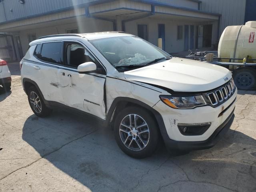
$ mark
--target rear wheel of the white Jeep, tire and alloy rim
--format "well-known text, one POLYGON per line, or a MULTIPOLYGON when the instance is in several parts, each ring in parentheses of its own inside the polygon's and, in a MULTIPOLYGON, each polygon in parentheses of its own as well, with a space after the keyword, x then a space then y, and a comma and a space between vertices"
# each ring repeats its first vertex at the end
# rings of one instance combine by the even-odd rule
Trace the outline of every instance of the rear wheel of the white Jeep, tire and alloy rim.
POLYGON ((38 117, 46 117, 52 112, 52 110, 44 104, 44 101, 35 86, 31 86, 28 89, 28 102, 30 108, 38 117))

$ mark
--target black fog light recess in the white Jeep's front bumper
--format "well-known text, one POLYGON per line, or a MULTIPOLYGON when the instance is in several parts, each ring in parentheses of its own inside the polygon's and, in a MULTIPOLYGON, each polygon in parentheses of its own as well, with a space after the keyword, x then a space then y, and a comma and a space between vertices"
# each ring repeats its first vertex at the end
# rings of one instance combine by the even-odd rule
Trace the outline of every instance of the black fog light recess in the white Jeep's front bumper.
POLYGON ((204 132, 206 132, 206 130, 208 130, 211 124, 211 122, 191 124, 179 123, 178 128, 182 135, 202 135, 204 132))

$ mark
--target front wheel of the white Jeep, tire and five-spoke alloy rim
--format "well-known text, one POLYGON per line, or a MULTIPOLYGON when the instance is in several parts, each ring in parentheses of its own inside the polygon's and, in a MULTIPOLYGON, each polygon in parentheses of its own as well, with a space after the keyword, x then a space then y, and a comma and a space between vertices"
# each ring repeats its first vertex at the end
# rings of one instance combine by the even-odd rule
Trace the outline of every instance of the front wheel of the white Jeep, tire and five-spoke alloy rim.
POLYGON ((120 149, 133 158, 151 156, 160 141, 156 121, 147 110, 139 107, 124 108, 118 113, 114 121, 114 135, 120 149))

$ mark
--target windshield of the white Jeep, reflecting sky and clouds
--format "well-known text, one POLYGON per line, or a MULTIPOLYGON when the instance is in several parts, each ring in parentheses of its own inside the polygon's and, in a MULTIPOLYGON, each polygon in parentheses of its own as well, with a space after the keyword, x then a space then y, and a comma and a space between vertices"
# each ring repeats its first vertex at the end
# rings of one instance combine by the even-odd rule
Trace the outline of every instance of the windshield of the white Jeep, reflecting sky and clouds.
POLYGON ((114 66, 144 66, 170 56, 136 36, 91 40, 90 43, 114 66))

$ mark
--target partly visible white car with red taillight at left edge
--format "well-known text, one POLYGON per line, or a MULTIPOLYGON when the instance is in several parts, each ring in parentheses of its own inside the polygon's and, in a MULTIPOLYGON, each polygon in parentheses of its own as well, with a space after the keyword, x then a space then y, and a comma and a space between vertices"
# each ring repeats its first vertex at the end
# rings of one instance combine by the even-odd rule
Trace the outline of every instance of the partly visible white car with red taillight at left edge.
POLYGON ((7 91, 11 89, 11 73, 5 60, 0 59, 0 85, 7 91))

